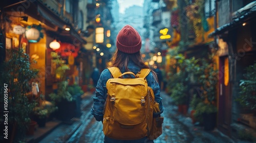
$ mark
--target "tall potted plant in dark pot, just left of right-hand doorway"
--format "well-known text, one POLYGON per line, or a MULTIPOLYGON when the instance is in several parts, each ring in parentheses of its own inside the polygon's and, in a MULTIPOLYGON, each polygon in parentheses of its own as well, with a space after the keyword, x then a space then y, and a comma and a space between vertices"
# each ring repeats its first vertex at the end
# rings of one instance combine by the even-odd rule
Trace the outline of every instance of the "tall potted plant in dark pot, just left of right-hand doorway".
POLYGON ((216 94, 218 83, 218 70, 213 61, 214 53, 208 59, 202 59, 201 69, 203 73, 199 77, 201 83, 200 102, 196 106, 195 117, 203 117, 204 129, 213 130, 216 126, 217 107, 216 94))

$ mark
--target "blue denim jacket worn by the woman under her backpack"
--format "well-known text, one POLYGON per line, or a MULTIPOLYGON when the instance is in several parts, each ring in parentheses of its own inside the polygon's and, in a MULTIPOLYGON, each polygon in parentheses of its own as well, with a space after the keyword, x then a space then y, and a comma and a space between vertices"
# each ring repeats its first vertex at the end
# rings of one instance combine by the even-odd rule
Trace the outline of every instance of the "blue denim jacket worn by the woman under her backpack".
MULTIPOLYGON (((139 66, 135 65, 132 61, 128 63, 128 68, 130 71, 132 71, 135 75, 140 71, 139 66)), ((125 72, 124 67, 120 69, 121 73, 125 72)), ((126 75, 125 75, 126 76, 126 75)), ((106 89, 106 82, 111 78, 111 73, 109 69, 104 69, 100 75, 100 78, 98 80, 97 86, 96 86, 96 97, 93 98, 93 106, 91 109, 91 113, 94 115, 96 121, 102 121, 103 120, 103 109, 104 104, 106 101, 106 93, 108 92, 106 89)), ((164 107, 162 105, 162 98, 160 97, 160 88, 159 84, 156 81, 152 71, 150 74, 146 76, 147 84, 150 86, 155 94, 155 101, 159 103, 160 112, 154 113, 154 116, 158 116, 161 114, 164 110, 164 107)))

